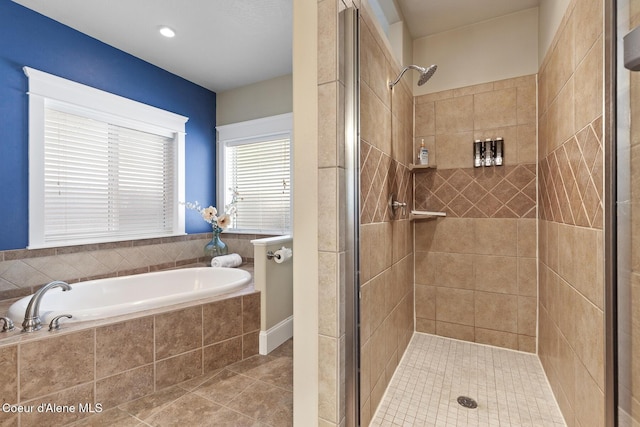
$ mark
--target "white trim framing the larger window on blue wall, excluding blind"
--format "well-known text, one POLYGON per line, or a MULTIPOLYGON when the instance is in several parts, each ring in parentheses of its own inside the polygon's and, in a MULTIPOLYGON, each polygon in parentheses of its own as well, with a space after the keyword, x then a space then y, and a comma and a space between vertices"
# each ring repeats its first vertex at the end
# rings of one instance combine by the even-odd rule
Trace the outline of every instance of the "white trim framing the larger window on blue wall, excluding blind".
MULTIPOLYGON (((68 110, 91 112, 101 120, 137 129, 170 134, 176 140, 176 183, 174 206, 177 214, 172 235, 185 234, 185 208, 179 202, 185 198, 185 124, 188 117, 171 113, 141 102, 85 86, 30 67, 23 67, 29 78, 29 245, 28 249, 55 247, 61 244, 44 242, 44 114, 51 104, 64 104, 68 110), (98 113, 96 113, 98 112, 98 113), (136 117, 131 120, 129 117, 136 117), (140 128, 143 122, 144 128, 140 128)), ((104 241, 113 241, 105 239, 104 241)), ((69 243, 69 245, 83 242, 69 243)), ((86 242, 89 243, 89 242, 86 242)), ((91 243, 99 243, 92 241, 91 243)))

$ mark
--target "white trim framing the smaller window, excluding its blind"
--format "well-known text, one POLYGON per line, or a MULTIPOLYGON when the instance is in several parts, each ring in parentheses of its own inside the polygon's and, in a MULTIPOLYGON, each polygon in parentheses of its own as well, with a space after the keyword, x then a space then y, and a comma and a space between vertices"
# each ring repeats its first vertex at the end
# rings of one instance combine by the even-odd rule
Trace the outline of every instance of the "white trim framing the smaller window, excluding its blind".
MULTIPOLYGON (((276 137, 289 139, 291 144, 291 159, 293 159, 293 113, 278 114, 275 116, 264 117, 260 119, 247 120, 244 122, 232 123, 228 125, 217 126, 217 206, 224 209, 225 188, 225 145, 247 144, 256 141, 262 141, 266 138, 276 137)), ((291 173, 291 194, 293 195, 293 171, 291 173)), ((293 197, 291 198, 290 209, 293 213, 293 197)), ((293 215, 291 216, 293 218, 293 215)), ((244 230, 230 229, 233 233, 238 234, 255 234, 260 230, 244 230)), ((286 234, 291 234, 293 230, 289 230, 286 234)))

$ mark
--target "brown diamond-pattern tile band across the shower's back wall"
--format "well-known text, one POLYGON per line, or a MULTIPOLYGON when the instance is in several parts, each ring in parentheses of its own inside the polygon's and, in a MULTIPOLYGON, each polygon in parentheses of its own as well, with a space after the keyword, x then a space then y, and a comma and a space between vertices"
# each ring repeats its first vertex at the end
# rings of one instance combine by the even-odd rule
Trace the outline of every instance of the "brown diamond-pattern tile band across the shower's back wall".
POLYGON ((416 174, 415 181, 419 210, 443 211, 457 218, 535 216, 534 164, 433 170, 416 174))

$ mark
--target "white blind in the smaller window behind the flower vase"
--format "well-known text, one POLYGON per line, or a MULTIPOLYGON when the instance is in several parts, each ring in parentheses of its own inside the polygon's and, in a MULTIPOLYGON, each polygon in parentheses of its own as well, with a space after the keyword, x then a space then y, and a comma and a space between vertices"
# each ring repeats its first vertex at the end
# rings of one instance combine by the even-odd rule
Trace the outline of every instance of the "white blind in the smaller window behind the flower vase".
POLYGON ((235 193, 232 228, 272 232, 291 229, 289 138, 226 147, 227 201, 235 193))

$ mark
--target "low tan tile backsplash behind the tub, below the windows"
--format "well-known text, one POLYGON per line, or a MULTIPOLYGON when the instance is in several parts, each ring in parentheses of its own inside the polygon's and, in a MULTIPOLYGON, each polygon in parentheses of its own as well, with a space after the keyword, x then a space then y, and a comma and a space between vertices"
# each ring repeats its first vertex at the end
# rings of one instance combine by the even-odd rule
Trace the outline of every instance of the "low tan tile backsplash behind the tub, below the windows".
MULTIPOLYGON (((223 233, 231 252, 253 260, 251 240, 269 237, 223 233)), ((129 276, 206 263, 203 248, 211 233, 162 239, 130 240, 50 249, 0 251, 0 301, 34 293, 53 281, 69 283, 129 276)))

